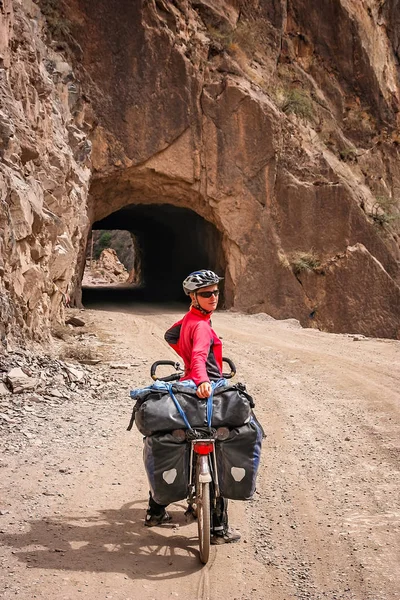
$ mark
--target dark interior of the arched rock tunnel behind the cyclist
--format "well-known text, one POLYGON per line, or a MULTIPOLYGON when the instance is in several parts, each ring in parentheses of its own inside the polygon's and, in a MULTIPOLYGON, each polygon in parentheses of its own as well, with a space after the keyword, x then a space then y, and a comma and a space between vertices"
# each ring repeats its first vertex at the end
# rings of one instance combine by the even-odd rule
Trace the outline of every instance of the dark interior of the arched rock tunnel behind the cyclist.
POLYGON ((131 204, 95 222, 93 229, 126 230, 135 236, 141 284, 84 287, 84 306, 100 301, 184 302, 182 281, 191 271, 212 269, 224 275, 221 233, 192 210, 170 204, 131 204))

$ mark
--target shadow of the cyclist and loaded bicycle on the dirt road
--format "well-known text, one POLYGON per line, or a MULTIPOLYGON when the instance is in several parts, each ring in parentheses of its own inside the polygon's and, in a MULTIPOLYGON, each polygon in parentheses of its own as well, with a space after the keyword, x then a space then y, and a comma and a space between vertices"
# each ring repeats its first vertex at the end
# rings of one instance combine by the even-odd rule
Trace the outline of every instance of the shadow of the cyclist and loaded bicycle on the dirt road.
MULTIPOLYGON (((197 538, 189 537, 189 527, 183 535, 172 524, 145 528, 143 508, 134 508, 135 504, 139 501, 93 517, 32 521, 30 531, 2 535, 2 542, 21 549, 13 554, 29 568, 122 573, 154 581, 184 577, 202 568, 197 538)), ((173 523, 183 528, 182 507, 174 510, 171 505, 169 512, 173 523)))

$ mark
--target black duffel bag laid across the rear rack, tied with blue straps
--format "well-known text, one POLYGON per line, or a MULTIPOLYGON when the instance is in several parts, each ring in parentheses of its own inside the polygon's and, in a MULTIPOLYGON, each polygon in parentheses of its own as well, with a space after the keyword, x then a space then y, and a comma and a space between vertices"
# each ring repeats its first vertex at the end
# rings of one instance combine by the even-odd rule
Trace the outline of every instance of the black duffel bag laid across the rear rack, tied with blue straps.
MULTIPOLYGON (((207 400, 199 398, 196 389, 174 384, 171 390, 192 427, 207 425, 207 400)), ((186 429, 172 397, 167 390, 147 388, 136 396, 133 416, 143 435, 186 429)), ((220 385, 214 390, 212 427, 238 427, 249 422, 254 402, 243 384, 220 385)))

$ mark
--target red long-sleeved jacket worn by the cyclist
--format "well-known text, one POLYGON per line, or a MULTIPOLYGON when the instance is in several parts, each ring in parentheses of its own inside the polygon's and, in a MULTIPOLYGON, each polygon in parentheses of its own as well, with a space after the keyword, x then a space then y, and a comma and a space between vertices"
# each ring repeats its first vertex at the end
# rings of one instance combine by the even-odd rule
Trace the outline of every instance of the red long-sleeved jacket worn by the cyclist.
POLYGON ((211 327, 210 317, 191 306, 164 336, 185 363, 181 380, 193 379, 196 385, 222 377, 222 342, 211 327))

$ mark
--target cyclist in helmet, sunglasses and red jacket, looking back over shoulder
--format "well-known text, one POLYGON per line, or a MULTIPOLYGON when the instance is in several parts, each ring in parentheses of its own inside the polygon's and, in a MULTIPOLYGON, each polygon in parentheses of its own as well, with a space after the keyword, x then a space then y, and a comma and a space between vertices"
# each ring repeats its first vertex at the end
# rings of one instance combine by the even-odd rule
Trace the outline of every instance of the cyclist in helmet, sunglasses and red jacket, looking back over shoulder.
MULTIPOLYGON (((190 273, 183 290, 192 301, 186 315, 165 334, 168 344, 185 364, 181 380, 191 379, 197 385, 199 398, 211 395, 211 381, 222 377, 222 342, 211 327, 211 315, 217 308, 222 277, 213 271, 190 273)), ((237 542, 240 535, 228 527, 228 501, 220 497, 212 515, 212 544, 237 542)), ((150 495, 145 525, 152 527, 171 520, 165 506, 157 504, 150 495)))

